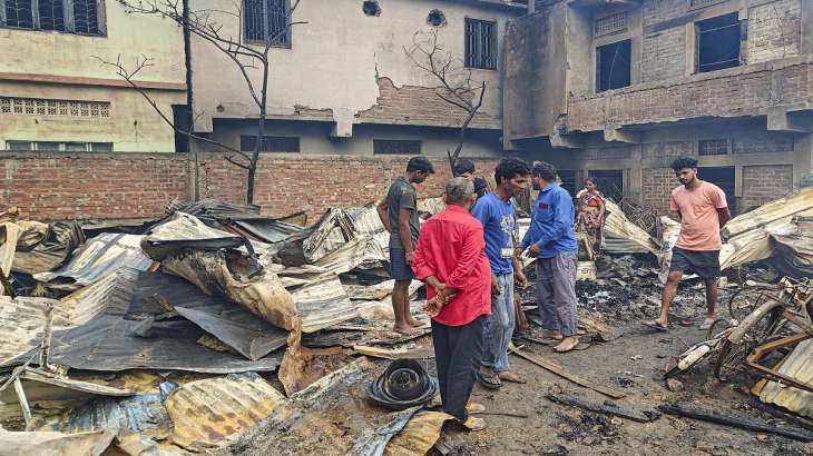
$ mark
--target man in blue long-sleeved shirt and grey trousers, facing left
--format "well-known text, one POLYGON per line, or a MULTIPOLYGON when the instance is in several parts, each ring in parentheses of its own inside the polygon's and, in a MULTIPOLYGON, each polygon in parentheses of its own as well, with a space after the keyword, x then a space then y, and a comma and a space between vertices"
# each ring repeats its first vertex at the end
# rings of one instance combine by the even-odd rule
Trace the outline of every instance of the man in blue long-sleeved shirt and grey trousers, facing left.
POLYGON ((556 168, 547 162, 533 166, 531 184, 539 190, 533 202, 531 226, 520 249, 537 258, 537 297, 543 337, 561 340, 556 351, 579 345, 576 325, 576 269, 578 245, 574 234, 574 201, 556 184, 556 168))

